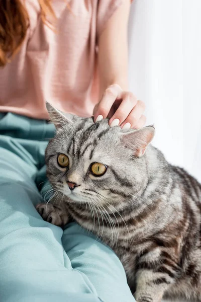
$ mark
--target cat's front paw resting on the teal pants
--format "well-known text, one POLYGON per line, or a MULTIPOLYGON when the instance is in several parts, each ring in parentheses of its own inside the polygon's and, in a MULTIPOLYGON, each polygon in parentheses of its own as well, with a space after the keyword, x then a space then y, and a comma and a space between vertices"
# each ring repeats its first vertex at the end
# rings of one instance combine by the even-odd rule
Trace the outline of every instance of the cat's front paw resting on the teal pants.
POLYGON ((57 206, 53 206, 51 203, 38 203, 36 209, 47 222, 58 226, 64 226, 68 222, 69 216, 66 211, 57 206))

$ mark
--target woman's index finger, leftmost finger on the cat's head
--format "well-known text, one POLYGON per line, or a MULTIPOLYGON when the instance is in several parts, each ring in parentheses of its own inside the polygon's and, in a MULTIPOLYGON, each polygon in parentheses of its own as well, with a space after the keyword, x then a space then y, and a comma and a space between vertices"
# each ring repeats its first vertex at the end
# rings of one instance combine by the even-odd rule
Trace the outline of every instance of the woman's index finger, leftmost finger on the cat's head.
POLYGON ((111 85, 105 90, 102 99, 94 108, 94 122, 102 120, 103 118, 106 118, 108 116, 111 107, 113 106, 121 92, 122 89, 117 84, 111 85))

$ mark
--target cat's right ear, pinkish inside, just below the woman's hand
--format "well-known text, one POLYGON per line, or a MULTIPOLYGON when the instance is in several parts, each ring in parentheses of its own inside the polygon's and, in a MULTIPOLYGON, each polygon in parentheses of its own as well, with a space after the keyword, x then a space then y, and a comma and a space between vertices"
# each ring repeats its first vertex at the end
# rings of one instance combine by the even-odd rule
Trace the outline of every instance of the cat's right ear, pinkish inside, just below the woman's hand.
POLYGON ((155 128, 151 125, 121 133, 120 139, 127 148, 133 150, 135 157, 141 157, 144 155, 146 147, 153 139, 154 134, 155 128))

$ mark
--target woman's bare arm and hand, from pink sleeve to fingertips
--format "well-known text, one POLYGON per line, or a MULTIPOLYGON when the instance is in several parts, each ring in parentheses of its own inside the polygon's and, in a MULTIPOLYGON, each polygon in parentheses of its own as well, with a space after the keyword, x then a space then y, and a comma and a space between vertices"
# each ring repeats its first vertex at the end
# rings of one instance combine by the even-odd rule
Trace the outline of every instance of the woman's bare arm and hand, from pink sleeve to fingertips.
POLYGON ((145 105, 128 92, 128 19, 130 0, 107 22, 98 38, 100 102, 94 108, 94 120, 110 117, 111 126, 139 128, 145 124, 145 105))

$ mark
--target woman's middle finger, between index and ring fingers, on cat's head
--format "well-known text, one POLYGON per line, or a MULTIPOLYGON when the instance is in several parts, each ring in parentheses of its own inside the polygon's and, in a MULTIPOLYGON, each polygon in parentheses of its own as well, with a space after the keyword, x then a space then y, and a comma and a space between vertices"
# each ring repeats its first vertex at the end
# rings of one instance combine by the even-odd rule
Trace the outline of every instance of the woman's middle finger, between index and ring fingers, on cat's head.
POLYGON ((118 99, 121 99, 122 102, 109 121, 111 127, 121 125, 137 104, 137 99, 131 92, 122 92, 118 99))

